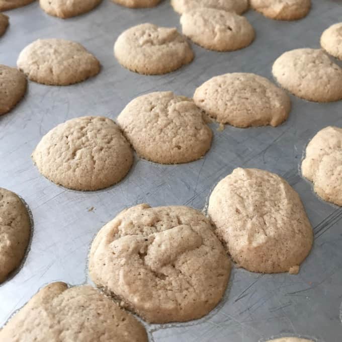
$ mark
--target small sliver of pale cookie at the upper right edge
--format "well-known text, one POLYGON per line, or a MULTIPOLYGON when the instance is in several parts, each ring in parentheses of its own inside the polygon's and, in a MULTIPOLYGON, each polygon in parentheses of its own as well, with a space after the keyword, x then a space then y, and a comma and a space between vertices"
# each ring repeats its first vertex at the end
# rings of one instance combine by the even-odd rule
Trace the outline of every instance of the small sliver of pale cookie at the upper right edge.
POLYGON ((342 60, 342 23, 327 28, 322 33, 320 44, 328 54, 342 60))

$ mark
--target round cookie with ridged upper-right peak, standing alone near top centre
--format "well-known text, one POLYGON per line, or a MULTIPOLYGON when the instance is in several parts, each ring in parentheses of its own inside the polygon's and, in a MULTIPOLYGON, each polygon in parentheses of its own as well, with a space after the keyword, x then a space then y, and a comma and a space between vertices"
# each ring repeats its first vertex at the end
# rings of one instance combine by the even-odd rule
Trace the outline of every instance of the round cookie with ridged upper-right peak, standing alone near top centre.
POLYGON ((146 75, 177 70, 194 59, 186 39, 176 28, 141 24, 121 33, 114 54, 125 68, 146 75))

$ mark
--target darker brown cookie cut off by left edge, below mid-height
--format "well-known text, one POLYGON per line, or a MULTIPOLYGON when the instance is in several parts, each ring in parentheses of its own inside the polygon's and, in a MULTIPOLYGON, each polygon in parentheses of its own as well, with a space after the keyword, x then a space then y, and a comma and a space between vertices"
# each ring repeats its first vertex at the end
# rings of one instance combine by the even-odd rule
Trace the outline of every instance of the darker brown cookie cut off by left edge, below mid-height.
POLYGON ((30 217, 24 203, 15 193, 0 188, 0 283, 22 262, 30 232, 30 217))

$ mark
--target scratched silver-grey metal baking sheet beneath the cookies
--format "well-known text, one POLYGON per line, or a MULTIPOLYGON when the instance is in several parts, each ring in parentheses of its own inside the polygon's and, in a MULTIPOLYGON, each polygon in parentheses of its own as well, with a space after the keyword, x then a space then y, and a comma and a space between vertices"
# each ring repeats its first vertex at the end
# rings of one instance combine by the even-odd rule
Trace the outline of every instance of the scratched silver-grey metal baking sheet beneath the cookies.
POLYGON ((298 166, 308 140, 327 125, 342 126, 342 102, 316 104, 291 97, 293 110, 278 128, 216 130, 211 150, 198 161, 175 166, 135 158, 128 177, 110 189, 76 192, 39 175, 30 154, 40 138, 67 119, 104 115, 115 119, 140 94, 172 90, 192 96, 210 77, 232 71, 272 78, 273 61, 284 51, 319 47, 320 33, 342 18, 338 1, 313 1, 310 15, 276 22, 249 11, 254 43, 232 53, 194 46, 190 65, 162 76, 122 68, 112 48, 126 28, 143 22, 179 25, 167 1, 151 10, 129 10, 105 0, 95 11, 68 20, 43 13, 37 3, 9 11, 11 26, 0 39, 0 63, 15 66, 19 52, 37 38, 82 43, 101 61, 101 73, 69 87, 29 83, 20 105, 0 118, 0 186, 20 194, 34 219, 31 249, 22 269, 0 286, 0 326, 43 285, 89 282, 88 249, 96 232, 119 211, 141 202, 204 208, 215 184, 237 166, 265 168, 283 176, 300 194, 315 231, 312 252, 299 275, 260 275, 234 269, 224 301, 207 317, 190 323, 147 325, 150 340, 257 342, 283 333, 319 341, 342 339, 342 209, 319 200, 298 166), (94 210, 89 211, 94 207, 94 210))

